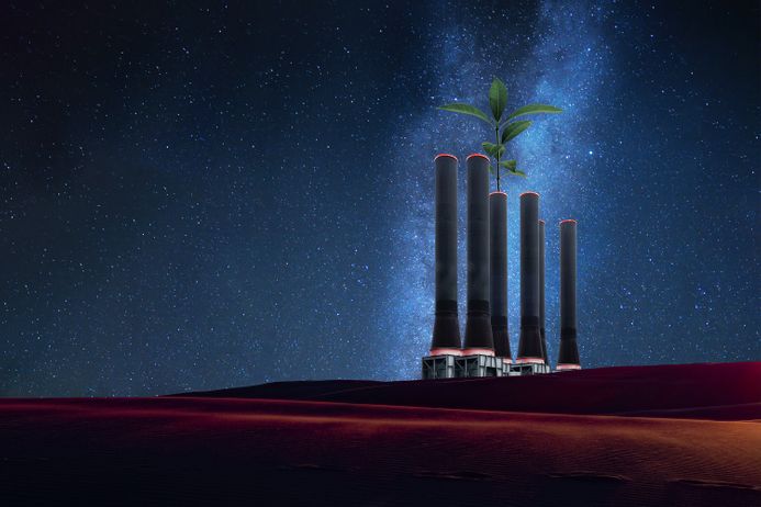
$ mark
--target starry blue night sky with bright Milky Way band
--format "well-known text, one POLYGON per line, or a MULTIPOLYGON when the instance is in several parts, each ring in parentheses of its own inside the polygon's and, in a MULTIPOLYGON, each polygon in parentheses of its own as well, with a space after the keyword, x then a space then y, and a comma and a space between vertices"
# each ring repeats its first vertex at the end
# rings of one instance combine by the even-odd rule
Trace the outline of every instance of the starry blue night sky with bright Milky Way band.
POLYGON ((433 158, 512 144, 579 221, 585 368, 761 359, 757 2, 3 2, 0 395, 413 379, 434 307, 433 158), (701 3, 701 7, 697 4, 701 3), (727 7, 727 4, 734 7, 727 7), (686 5, 686 4, 684 4, 686 5))

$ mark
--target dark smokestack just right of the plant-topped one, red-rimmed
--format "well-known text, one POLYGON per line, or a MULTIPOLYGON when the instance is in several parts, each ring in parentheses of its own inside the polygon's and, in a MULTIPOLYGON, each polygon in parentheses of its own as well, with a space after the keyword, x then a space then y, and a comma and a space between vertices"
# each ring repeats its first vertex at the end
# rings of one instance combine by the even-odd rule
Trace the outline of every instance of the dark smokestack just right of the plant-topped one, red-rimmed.
POLYGON ((521 194, 521 341, 518 363, 544 364, 539 333, 539 194, 521 194))

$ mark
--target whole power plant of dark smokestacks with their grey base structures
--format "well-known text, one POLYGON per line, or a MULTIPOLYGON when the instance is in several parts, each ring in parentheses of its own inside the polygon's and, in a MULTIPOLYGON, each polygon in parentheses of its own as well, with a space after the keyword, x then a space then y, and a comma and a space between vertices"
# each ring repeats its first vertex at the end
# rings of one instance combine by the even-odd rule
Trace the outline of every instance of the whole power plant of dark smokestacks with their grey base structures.
MULTIPOLYGON (((507 329, 507 195, 489 192, 490 160, 467 160, 467 314, 460 339, 457 301, 457 167, 434 159, 436 309, 423 379, 549 373, 545 336, 545 222, 539 194, 521 194, 521 338, 513 359, 507 329)), ((579 370, 577 347, 577 222, 560 222, 560 351, 555 371, 579 370)))

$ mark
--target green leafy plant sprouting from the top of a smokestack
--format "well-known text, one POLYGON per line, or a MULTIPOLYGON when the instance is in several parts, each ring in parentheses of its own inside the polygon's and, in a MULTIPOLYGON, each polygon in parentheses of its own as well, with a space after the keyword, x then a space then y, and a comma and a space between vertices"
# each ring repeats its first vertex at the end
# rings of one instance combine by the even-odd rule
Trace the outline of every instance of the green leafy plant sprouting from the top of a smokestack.
POLYGON ((505 106, 507 105, 507 88, 505 83, 499 78, 494 78, 492 86, 489 89, 489 106, 492 110, 492 117, 489 117, 486 113, 475 108, 474 105, 454 103, 441 105, 441 111, 450 111, 452 113, 469 114, 475 116, 479 120, 486 122, 492 128, 494 128, 494 140, 496 143, 482 143, 483 149, 489 154, 490 157, 496 159, 496 165, 492 166, 490 164, 489 170, 492 171, 496 178, 496 190, 500 190, 500 172, 505 170, 507 174, 519 176, 526 178, 526 173, 517 169, 517 162, 515 160, 502 160, 505 155, 505 144, 518 136, 522 132, 531 125, 529 120, 521 120, 515 122, 514 120, 519 116, 526 116, 528 114, 538 113, 561 113, 562 110, 549 104, 528 104, 523 108, 518 108, 504 120, 502 117, 505 112, 505 106))

